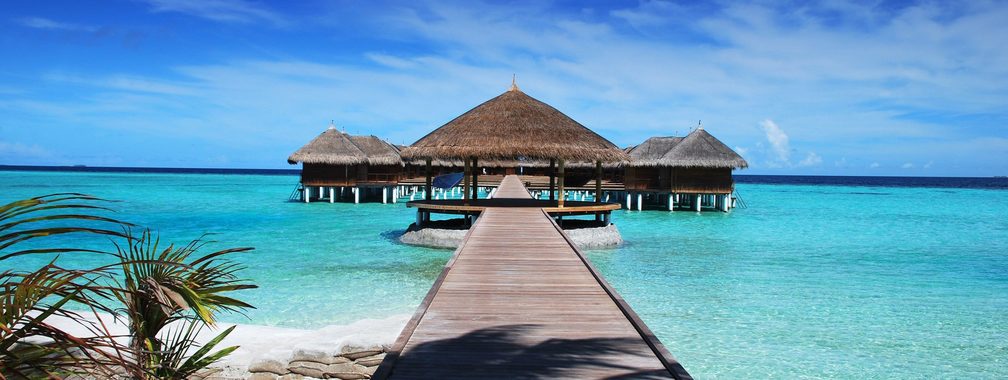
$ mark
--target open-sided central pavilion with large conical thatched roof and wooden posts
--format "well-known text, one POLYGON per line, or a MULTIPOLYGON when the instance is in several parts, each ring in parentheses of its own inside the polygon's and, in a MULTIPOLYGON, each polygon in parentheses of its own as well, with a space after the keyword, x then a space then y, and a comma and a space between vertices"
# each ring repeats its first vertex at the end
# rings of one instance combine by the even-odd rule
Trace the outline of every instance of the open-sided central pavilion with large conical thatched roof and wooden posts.
MULTIPOLYGON (((541 160, 555 169, 549 174, 549 199, 556 209, 563 209, 565 166, 568 162, 592 162, 595 166, 596 197, 601 203, 603 162, 628 160, 626 152, 612 142, 586 128, 555 108, 521 92, 516 85, 461 116, 449 121, 401 151, 409 161, 422 160, 427 188, 425 201, 430 204, 430 176, 437 160, 463 163, 463 203, 478 198, 482 167, 502 162, 541 160), (554 193, 555 188, 555 193, 554 193), (472 193, 472 194, 470 194, 472 193), (554 200, 555 197, 555 200, 554 200)), ((430 204, 432 205, 432 204, 430 204)), ((437 208, 418 206, 417 225, 429 220, 437 208)), ((608 212, 596 214, 597 219, 608 212)))

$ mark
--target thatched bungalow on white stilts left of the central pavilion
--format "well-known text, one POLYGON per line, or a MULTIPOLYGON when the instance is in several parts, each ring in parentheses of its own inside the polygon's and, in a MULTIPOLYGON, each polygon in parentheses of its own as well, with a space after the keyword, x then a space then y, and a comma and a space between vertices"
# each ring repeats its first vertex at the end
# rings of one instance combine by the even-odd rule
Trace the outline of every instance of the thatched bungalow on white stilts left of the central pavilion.
POLYGON ((301 162, 301 199, 336 200, 353 197, 359 203, 381 193, 382 203, 396 202, 403 164, 399 149, 375 136, 351 136, 329 129, 287 157, 301 162), (318 189, 318 193, 314 192, 318 189), (328 197, 327 197, 328 196, 328 197))

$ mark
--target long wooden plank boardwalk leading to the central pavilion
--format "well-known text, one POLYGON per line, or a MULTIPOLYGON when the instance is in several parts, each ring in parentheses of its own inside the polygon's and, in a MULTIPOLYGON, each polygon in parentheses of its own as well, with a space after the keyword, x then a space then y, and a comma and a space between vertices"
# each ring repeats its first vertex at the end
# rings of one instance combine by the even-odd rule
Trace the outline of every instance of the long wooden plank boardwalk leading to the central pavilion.
POLYGON ((690 377, 541 209, 488 208, 374 378, 690 377))

